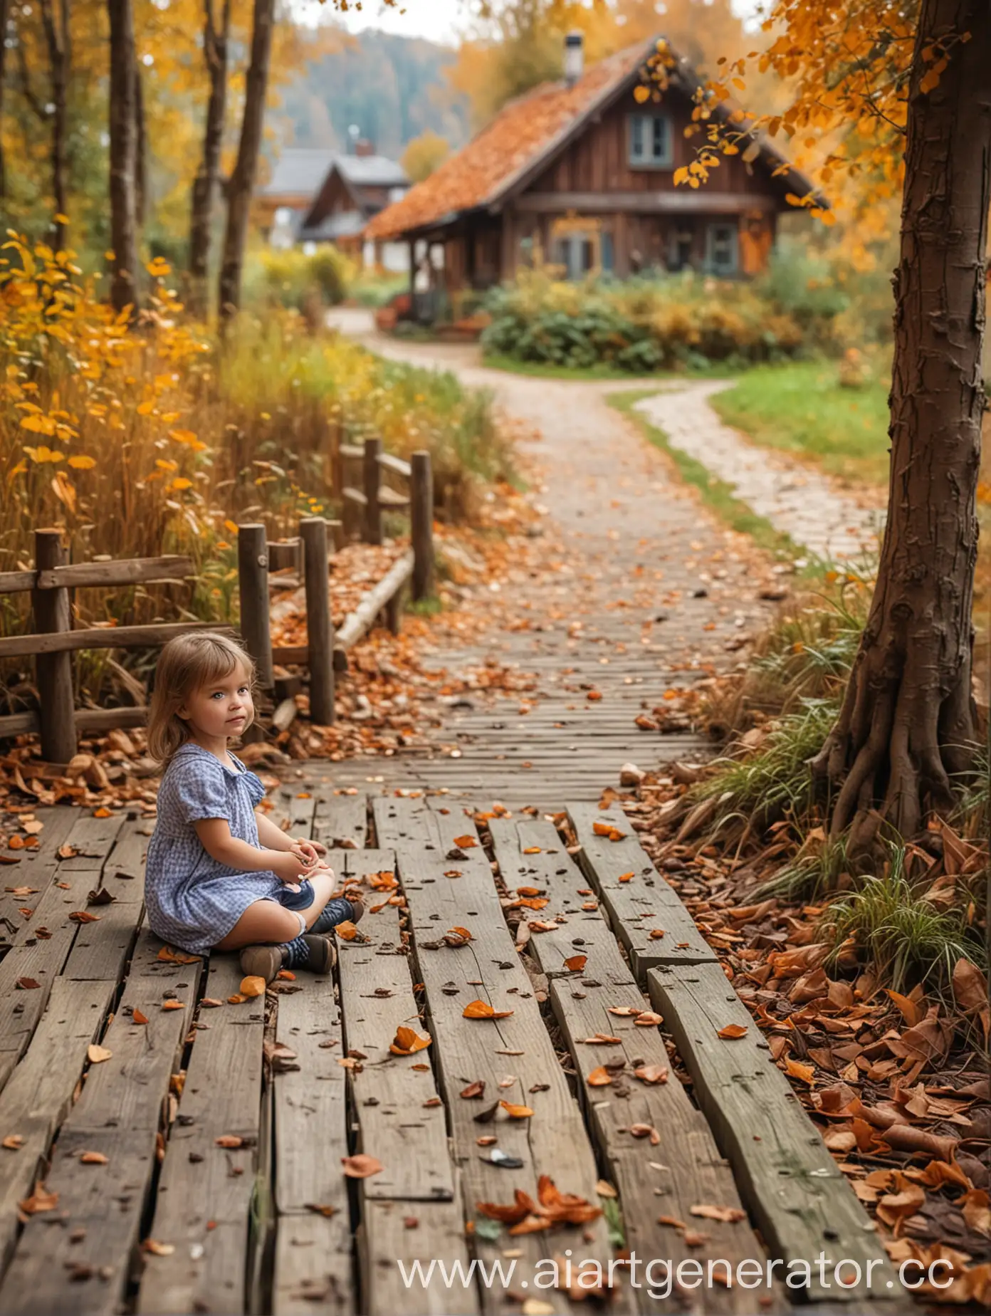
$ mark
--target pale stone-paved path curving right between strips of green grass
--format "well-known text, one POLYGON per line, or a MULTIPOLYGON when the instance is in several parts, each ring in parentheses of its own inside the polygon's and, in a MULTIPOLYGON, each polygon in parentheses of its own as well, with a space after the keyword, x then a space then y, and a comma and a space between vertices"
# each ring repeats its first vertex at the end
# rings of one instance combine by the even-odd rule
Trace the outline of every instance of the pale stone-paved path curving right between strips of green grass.
POLYGON ((826 562, 857 562, 878 547, 880 516, 858 505, 832 480, 783 453, 749 443, 724 425, 709 397, 726 380, 665 390, 637 403, 674 446, 725 480, 734 497, 826 562))

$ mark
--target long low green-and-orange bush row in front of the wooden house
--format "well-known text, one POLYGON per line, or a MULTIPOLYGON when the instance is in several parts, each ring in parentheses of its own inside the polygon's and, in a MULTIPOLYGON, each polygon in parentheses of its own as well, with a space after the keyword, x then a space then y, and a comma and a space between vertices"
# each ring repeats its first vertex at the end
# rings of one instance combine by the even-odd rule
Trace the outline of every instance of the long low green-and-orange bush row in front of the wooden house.
POLYGON ((770 284, 692 274, 565 283, 538 268, 490 295, 492 324, 482 343, 487 353, 516 361, 630 374, 744 365, 821 346, 837 307, 830 300, 792 313, 770 284))

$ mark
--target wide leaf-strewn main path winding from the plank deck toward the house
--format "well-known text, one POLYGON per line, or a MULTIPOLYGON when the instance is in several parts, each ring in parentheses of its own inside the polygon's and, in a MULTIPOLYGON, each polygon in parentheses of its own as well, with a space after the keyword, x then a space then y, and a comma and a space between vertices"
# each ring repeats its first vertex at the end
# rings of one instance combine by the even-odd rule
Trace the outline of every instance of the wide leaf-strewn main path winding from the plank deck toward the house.
MULTIPOLYGON (((474 347, 371 337, 365 312, 343 332, 392 359, 453 370, 487 387, 520 430, 542 533, 520 544, 505 574, 462 599, 491 624, 465 645, 442 619, 425 662, 457 672, 486 659, 534 674, 534 688, 494 711, 446 709, 432 754, 336 765, 355 784, 462 786, 487 796, 558 803, 597 797, 628 761, 653 769, 698 754, 637 716, 676 707, 676 692, 745 661, 779 591, 774 565, 705 509, 670 459, 608 405, 632 384, 533 379, 487 370, 474 347), (517 707, 519 705, 519 707, 517 707), (365 769, 365 770, 363 770, 365 769), (540 784, 537 784, 540 783, 540 784)), ((513 545, 511 544, 511 550, 513 545)))

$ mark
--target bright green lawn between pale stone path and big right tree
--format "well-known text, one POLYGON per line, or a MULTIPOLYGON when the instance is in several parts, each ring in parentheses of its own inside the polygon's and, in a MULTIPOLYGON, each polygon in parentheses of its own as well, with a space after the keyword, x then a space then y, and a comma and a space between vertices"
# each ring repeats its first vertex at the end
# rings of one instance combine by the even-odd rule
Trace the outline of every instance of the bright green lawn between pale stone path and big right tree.
POLYGON ((844 388, 838 371, 833 361, 758 366, 709 401, 755 443, 808 458, 829 475, 886 484, 887 382, 844 388))

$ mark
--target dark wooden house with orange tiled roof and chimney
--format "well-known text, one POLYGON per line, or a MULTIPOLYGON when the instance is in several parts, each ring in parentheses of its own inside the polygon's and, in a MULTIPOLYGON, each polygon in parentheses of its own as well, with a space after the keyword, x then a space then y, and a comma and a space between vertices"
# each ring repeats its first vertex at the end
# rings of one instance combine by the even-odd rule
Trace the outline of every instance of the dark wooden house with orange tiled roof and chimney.
POLYGON ((366 236, 408 242, 415 291, 422 295, 429 283, 449 297, 512 279, 538 257, 567 278, 687 267, 723 278, 759 272, 778 215, 790 209, 786 193, 805 196, 812 183, 757 138, 720 157, 701 187, 675 187, 675 170, 696 158, 700 141, 684 133, 696 74, 662 38, 587 71, 580 34, 567 42, 563 82, 505 105, 375 216, 366 236))

